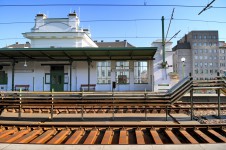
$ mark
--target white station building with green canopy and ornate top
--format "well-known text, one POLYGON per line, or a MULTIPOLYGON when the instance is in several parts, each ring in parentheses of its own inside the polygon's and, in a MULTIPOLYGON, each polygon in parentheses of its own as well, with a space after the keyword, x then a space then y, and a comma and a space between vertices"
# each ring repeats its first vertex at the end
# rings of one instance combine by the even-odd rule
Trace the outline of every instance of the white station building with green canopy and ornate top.
POLYGON ((67 18, 37 14, 34 27, 23 33, 30 43, 0 49, 0 90, 112 91, 116 82, 115 91, 153 91, 157 47, 127 41, 107 46, 79 24, 76 13, 67 18))

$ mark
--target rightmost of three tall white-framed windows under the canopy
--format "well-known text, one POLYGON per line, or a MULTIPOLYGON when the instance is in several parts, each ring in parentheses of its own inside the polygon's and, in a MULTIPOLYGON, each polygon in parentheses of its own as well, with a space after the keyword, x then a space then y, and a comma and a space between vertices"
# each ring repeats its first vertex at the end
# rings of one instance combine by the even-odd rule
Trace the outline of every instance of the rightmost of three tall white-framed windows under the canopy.
POLYGON ((148 83, 147 61, 134 62, 134 83, 148 83))

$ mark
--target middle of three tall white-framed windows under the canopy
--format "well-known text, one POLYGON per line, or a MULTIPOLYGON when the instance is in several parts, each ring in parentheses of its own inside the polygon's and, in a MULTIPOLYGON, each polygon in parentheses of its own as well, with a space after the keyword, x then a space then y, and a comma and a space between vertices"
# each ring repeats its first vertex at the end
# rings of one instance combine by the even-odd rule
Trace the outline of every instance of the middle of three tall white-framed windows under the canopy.
POLYGON ((116 62, 116 82, 118 84, 129 83, 129 61, 116 62))

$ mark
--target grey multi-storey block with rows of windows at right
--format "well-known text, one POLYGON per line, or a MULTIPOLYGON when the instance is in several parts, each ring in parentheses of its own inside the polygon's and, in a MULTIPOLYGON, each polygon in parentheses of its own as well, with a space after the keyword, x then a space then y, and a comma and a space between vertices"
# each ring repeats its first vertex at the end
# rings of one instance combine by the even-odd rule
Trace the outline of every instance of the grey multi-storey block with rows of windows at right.
POLYGON ((191 31, 173 48, 174 72, 180 79, 192 73, 195 80, 208 80, 225 69, 225 56, 219 50, 218 31, 191 31), (185 61, 181 61, 185 58, 185 61))

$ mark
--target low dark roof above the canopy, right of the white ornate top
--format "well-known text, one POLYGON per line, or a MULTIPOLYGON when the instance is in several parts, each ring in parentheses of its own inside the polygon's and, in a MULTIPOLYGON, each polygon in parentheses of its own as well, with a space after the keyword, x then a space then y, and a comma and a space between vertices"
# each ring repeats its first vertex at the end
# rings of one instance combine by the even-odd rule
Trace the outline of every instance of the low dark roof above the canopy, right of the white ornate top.
POLYGON ((104 42, 104 41, 101 42, 94 41, 94 42, 97 44, 98 47, 135 47, 132 44, 128 43, 126 40, 124 41, 116 40, 115 42, 104 42))

